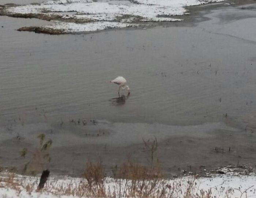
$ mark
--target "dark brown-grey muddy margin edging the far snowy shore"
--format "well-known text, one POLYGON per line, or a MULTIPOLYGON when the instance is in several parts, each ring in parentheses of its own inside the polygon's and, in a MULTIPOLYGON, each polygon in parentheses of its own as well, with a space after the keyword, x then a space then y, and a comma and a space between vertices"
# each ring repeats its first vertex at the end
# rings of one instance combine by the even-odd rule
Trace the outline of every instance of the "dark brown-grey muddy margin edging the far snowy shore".
MULTIPOLYGON (((19 14, 19 13, 5 13, 4 9, 7 9, 8 6, 20 6, 18 4, 5 4, 5 5, 1 5, 2 7, 2 13, 0 13, 0 16, 9 16, 9 17, 13 17, 13 18, 35 18, 35 19, 40 19, 40 20, 46 20, 51 22, 49 25, 46 26, 29 26, 29 27, 20 27, 17 29, 17 31, 29 31, 29 32, 34 32, 34 33, 43 33, 43 34, 50 34, 50 35, 61 35, 61 34, 94 34, 94 33, 99 33, 99 32, 104 32, 104 31, 113 31, 113 30, 135 30, 135 29, 148 29, 148 28, 156 28, 156 27, 191 27, 194 26, 196 23, 200 23, 203 22, 205 20, 208 20, 207 18, 204 18, 203 15, 206 15, 207 12, 210 13, 211 10, 213 9, 222 9, 222 8, 226 8, 228 6, 231 7, 237 7, 237 6, 241 6, 241 5, 247 5, 247 4, 252 4, 254 3, 253 0, 246 0, 246 1, 235 1, 235 3, 233 2, 234 0, 222 0, 221 2, 210 2, 210 3, 206 3, 206 4, 201 4, 201 5, 190 5, 190 6, 184 6, 184 8, 188 11, 188 14, 183 14, 183 15, 172 15, 174 17, 175 20, 171 21, 171 22, 140 22, 140 23, 129 23, 127 27, 121 27, 118 28, 116 27, 115 24, 110 24, 112 22, 109 22, 109 24, 106 26, 108 26, 108 28, 104 28, 105 25, 102 26, 103 29, 100 30, 90 30, 90 31, 78 31, 78 32, 65 32, 65 26, 63 26, 62 28, 59 29, 54 29, 52 28, 52 19, 50 19, 49 16, 44 16, 42 14, 19 14), (178 20, 178 21, 176 21, 178 20)), ((23 4, 21 4, 23 5, 23 4)), ((26 5, 26 4, 25 4, 26 5)), ((60 18, 61 19, 61 18, 60 18)), ((61 19, 62 21, 63 19, 61 19)), ((69 20, 68 22, 70 22, 70 24, 72 23, 71 20, 69 20)), ((75 22, 75 21, 74 21, 75 22)), ((81 22, 78 22, 81 23, 81 22)), ((102 23, 101 21, 96 21, 96 23, 102 23)), ((113 22, 116 23, 116 22, 113 22)), ((118 24, 117 24, 118 26, 118 24)))

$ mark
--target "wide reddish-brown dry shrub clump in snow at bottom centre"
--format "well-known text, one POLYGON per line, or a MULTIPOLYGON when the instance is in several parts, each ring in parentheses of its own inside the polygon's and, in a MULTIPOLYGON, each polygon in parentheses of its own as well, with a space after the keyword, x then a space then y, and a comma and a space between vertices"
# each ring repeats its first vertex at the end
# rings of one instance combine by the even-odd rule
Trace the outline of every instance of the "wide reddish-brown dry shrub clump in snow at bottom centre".
POLYGON ((159 167, 127 162, 114 167, 112 172, 114 197, 165 197, 167 180, 163 179, 159 167))

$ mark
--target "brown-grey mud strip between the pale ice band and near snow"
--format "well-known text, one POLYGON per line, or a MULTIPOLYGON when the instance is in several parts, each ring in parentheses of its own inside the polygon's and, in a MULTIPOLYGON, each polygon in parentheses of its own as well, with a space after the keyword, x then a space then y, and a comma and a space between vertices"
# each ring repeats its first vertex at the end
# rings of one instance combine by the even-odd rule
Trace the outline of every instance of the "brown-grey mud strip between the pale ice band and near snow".
MULTIPOLYGON (((53 141, 50 148, 51 161, 44 166, 54 174, 79 176, 87 161, 102 161, 109 174, 116 164, 128 160, 146 166, 150 164, 150 151, 145 147, 143 140, 148 141, 148 144, 151 145, 154 140, 153 135, 144 134, 138 140, 141 143, 127 142, 126 145, 121 145, 120 138, 125 138, 124 135, 120 134, 121 137, 118 138, 104 129, 96 130, 95 135, 92 132, 77 133, 81 142, 76 140, 75 134, 68 135, 64 131, 58 133, 53 130, 47 133, 42 128, 40 133, 42 132, 45 133, 46 140, 53 141), (151 138, 148 138, 150 136, 151 138), (107 141, 108 137, 113 139, 113 143, 107 141), (68 144, 67 139, 76 142, 76 145, 68 144), (114 145, 117 144, 117 141, 120 142, 118 146, 114 145)), ((24 165, 33 157, 33 153, 39 145, 37 134, 29 133, 27 136, 19 133, 19 136, 1 141, 0 161, 2 166, 22 172, 24 165), (20 156, 20 151, 23 148, 27 148, 29 151, 26 157, 20 156)), ((218 173, 218 167, 227 165, 256 167, 256 134, 251 131, 214 130, 208 132, 207 137, 202 135, 193 137, 188 133, 171 138, 163 138, 161 134, 154 134, 154 136, 158 138, 154 160, 158 161, 163 172, 169 177, 189 172, 193 175, 206 176, 208 172, 213 173, 211 170, 216 169, 216 173, 218 173)))

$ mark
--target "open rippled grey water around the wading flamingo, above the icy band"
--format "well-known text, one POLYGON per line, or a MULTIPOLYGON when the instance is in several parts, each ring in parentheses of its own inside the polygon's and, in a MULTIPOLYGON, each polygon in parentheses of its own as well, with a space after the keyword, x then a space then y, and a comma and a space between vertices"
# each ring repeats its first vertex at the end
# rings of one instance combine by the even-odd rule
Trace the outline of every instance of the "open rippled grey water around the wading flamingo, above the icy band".
POLYGON ((59 36, 20 33, 37 20, 1 17, 1 115, 44 109, 48 117, 188 125, 253 111, 255 20, 226 24, 218 14, 189 28, 59 36), (252 31, 237 37, 246 25, 252 31), (107 82, 118 75, 131 96, 116 106, 109 100, 118 87, 107 82))

